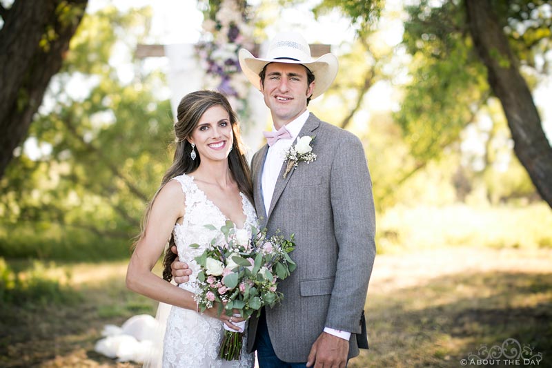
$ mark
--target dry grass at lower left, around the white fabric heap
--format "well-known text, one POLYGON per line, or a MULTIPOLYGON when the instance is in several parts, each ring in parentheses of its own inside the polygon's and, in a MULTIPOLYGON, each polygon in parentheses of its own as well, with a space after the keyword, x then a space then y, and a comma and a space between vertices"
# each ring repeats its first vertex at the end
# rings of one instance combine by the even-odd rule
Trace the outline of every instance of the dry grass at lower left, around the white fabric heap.
MULTIPOLYGON (((94 351, 103 325, 121 325, 138 313, 155 315, 157 303, 126 289, 125 271, 126 262, 50 264, 44 273, 46 277, 75 275, 61 279, 79 299, 76 302, 54 299, 46 304, 26 301, 3 305, 0 311, 0 366, 141 367, 117 363, 94 351)), ((25 275, 23 272, 21 276, 25 275)))

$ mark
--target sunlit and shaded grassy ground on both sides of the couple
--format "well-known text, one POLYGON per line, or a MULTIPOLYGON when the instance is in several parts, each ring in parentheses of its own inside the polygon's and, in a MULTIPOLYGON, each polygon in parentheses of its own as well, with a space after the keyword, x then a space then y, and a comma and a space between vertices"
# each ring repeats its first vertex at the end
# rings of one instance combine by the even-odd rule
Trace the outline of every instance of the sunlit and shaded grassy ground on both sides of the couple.
MULTIPOLYGON (((371 349, 348 367, 460 367, 508 339, 552 365, 552 212, 544 204, 397 206, 378 218, 377 236, 382 254, 365 308, 371 349)), ((37 261, 27 259, 42 255, 25 246, 38 235, 18 248, 0 234, 0 255, 17 258, 0 257, 0 367, 141 367, 94 351, 104 325, 155 315, 156 302, 124 285, 128 251, 63 239, 42 240, 41 254, 58 261, 37 261), (92 262, 102 254, 124 260, 92 262)))

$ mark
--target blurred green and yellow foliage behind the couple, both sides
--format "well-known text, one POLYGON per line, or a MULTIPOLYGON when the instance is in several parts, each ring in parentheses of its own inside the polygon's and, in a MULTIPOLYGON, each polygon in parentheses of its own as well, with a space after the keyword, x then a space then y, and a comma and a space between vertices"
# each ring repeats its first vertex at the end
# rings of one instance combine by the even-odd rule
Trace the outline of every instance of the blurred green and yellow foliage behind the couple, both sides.
MULTIPOLYGON (((280 8, 300 2, 279 1, 280 8)), ((201 4, 216 9, 218 2, 201 4)), ((531 87, 550 69, 535 64, 535 57, 551 48, 551 20, 535 12, 542 4, 496 3, 531 87), (520 27, 527 21, 533 26, 520 27)), ((259 35, 260 27, 279 17, 271 6, 262 4, 257 12, 259 35)), ((397 17, 384 1, 324 0, 313 14, 322 17, 333 10, 351 20, 357 37, 337 46, 339 75, 322 101, 310 107, 364 143, 383 219, 378 244, 392 244, 379 251, 395 249, 397 239, 404 239, 404 231, 397 234, 400 226, 386 220, 403 206, 464 204, 482 211, 481 206, 515 208, 539 201, 513 155, 502 108, 466 32, 462 2, 430 6, 424 0, 406 8, 404 38, 394 48, 377 47, 381 22, 397 17), (397 62, 404 54, 410 57, 407 65, 397 62), (373 86, 397 84, 400 74, 408 74, 408 81, 400 86, 399 108, 359 114, 373 86), (482 124, 484 116, 491 124, 482 124), (483 137, 482 155, 462 148, 469 130, 483 137)), ((128 257, 145 206, 170 164, 173 139, 170 104, 158 93, 166 86, 165 75, 146 72, 141 61, 132 60, 135 77, 124 81, 115 65, 120 55, 132 55, 146 40, 151 14, 150 8, 120 12, 108 6, 84 17, 29 131, 29 142, 51 151, 37 159, 19 148, 0 180, 0 257, 128 257)), ((544 231, 542 240, 532 244, 548 244, 548 238, 544 231)))

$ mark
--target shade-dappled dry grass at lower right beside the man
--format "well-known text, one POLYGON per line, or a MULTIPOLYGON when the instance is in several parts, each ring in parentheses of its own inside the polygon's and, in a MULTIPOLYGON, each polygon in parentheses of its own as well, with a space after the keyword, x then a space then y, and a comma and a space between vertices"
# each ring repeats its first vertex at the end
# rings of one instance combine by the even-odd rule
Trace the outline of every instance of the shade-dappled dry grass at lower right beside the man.
POLYGON ((372 349, 350 367, 460 367, 508 338, 552 357, 552 274, 455 274, 397 293, 371 293, 372 349))

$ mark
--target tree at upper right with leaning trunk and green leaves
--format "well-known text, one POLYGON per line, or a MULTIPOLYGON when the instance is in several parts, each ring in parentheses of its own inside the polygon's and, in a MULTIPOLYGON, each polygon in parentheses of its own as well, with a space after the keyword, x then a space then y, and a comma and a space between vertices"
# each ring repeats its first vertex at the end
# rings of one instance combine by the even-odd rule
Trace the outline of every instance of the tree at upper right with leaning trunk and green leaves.
POLYGON ((414 78, 397 120, 415 155, 438 155, 434 142, 453 142, 489 97, 500 99, 515 154, 552 206, 552 148, 527 72, 549 72, 546 63, 535 65, 535 55, 552 48, 544 3, 466 0, 432 7, 421 1, 408 7, 404 44, 413 55, 414 78))

